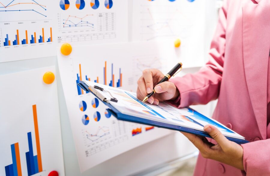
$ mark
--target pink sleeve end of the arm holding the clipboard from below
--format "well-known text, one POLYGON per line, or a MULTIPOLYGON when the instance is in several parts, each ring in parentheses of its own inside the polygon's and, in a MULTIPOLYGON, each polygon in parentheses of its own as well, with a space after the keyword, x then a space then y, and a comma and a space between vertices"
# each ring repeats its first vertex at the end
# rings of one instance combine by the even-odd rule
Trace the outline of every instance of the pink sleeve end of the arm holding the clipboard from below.
POLYGON ((242 175, 270 175, 270 139, 249 142, 241 145, 243 148, 242 175))

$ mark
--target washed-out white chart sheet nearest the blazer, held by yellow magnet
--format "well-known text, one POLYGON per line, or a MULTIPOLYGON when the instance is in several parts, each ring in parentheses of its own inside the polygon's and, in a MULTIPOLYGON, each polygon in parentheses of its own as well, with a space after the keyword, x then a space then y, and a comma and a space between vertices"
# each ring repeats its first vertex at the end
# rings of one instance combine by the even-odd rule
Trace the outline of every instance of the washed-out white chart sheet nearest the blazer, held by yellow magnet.
POLYGON ((133 1, 132 29, 133 41, 180 39, 179 58, 203 65, 205 0, 133 1))

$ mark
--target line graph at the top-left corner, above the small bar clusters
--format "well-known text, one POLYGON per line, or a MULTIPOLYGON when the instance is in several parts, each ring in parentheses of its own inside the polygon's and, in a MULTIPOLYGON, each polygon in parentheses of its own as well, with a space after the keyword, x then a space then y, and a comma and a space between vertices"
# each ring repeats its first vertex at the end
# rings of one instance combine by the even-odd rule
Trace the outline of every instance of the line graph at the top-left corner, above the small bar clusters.
MULTIPOLYGON (((42 10, 47 10, 46 9, 46 6, 45 5, 41 5, 41 4, 39 4, 38 2, 36 2, 35 0, 32 0, 32 2, 20 2, 20 3, 16 3, 16 4, 12 4, 14 1, 17 1, 17 0, 12 0, 9 4, 7 4, 7 5, 4 5, 2 2, 0 2, 0 4, 2 5, 2 7, 0 7, 0 12, 14 12, 14 11, 33 11, 33 12, 36 12, 36 13, 38 13, 38 14, 40 14, 40 15, 42 15, 42 16, 45 16, 45 17, 47 17, 45 14, 43 14, 42 12, 38 12, 37 10, 34 10, 34 9, 16 9, 16 8, 12 8, 12 9, 10 9, 10 7, 17 7, 18 5, 23 5, 23 4, 31 4, 31 5, 35 5, 35 6, 37 6, 37 7, 41 7, 42 8, 42 10), (2 9, 7 9, 7 10, 2 10, 2 9), (10 9, 10 10, 8 10, 8 9, 10 9)), ((20 6, 21 7, 21 6, 20 6)), ((27 8, 28 8, 28 6, 27 6, 27 8)))

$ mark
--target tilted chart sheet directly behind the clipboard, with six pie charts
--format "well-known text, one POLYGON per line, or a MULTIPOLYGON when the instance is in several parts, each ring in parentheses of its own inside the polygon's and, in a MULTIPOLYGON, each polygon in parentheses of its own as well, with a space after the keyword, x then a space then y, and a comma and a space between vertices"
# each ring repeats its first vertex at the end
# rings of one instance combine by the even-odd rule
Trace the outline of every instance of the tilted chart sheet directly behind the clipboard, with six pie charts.
POLYGON ((76 45, 69 56, 59 51, 59 71, 81 172, 171 133, 167 129, 118 121, 103 102, 76 84, 88 80, 136 91, 141 70, 149 68, 149 61, 144 60, 157 61, 159 67, 163 63, 157 54, 158 46, 150 45, 150 48, 148 42, 76 45))

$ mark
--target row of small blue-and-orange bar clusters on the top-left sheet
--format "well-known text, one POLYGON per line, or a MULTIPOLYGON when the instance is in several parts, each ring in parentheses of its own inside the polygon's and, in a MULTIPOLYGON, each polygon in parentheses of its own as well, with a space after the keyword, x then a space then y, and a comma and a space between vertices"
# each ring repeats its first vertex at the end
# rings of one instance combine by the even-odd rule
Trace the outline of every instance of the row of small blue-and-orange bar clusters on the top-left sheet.
MULTIPOLYGON (((46 42, 52 42, 52 28, 49 28, 49 36, 47 37, 46 42)), ((45 42, 45 36, 44 36, 44 28, 42 28, 40 31, 38 43, 44 43, 45 42)), ((12 41, 12 45, 25 45, 25 44, 33 44, 37 43, 37 34, 34 32, 34 34, 31 34, 31 37, 28 37, 28 32, 25 30, 25 39, 19 40, 19 30, 16 30, 16 34, 14 35, 14 40, 12 41), (29 40, 30 39, 30 40, 29 40), (30 42, 29 42, 30 41, 30 42)), ((11 46, 10 37, 8 34, 6 34, 6 37, 4 39, 4 46, 11 46)))

